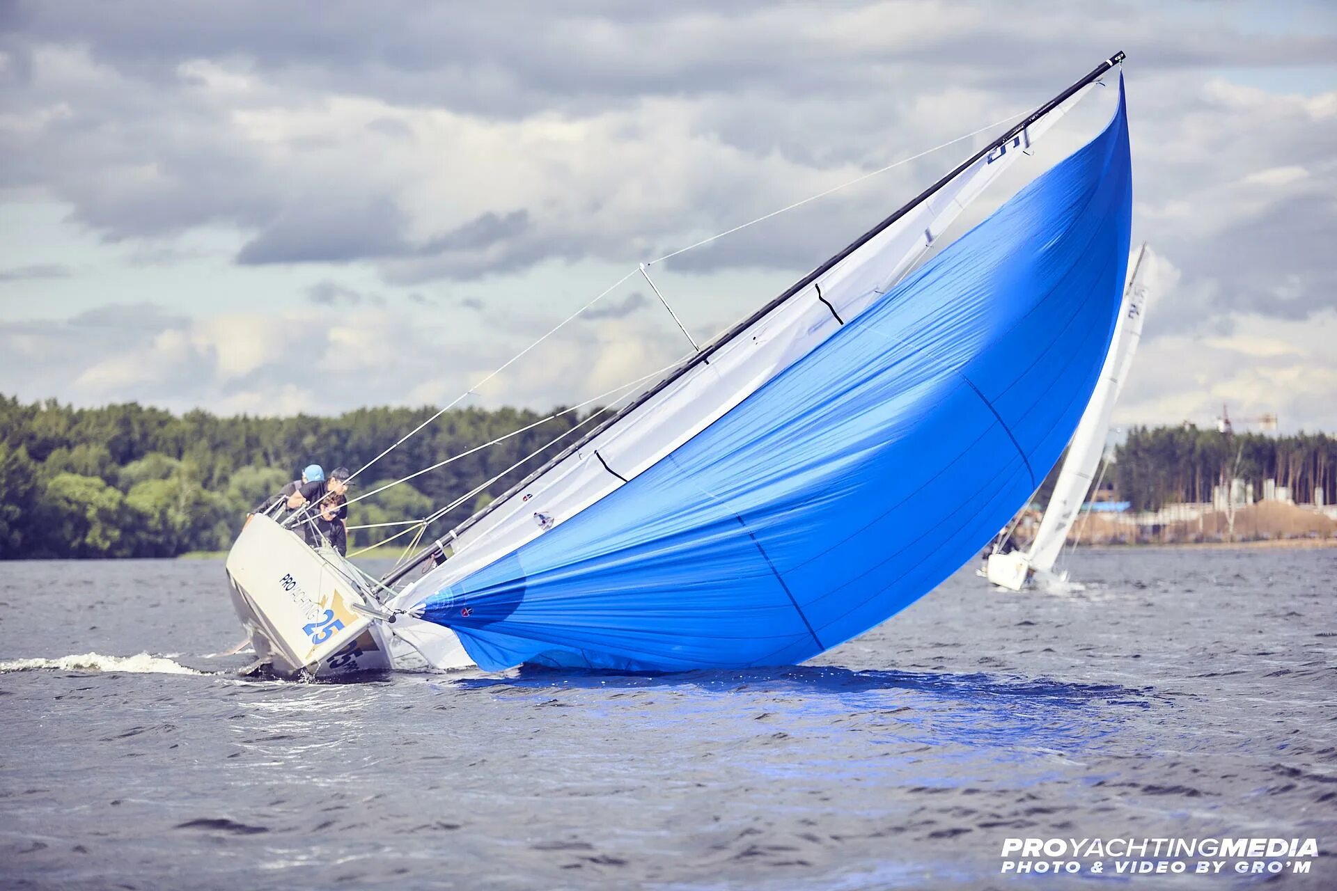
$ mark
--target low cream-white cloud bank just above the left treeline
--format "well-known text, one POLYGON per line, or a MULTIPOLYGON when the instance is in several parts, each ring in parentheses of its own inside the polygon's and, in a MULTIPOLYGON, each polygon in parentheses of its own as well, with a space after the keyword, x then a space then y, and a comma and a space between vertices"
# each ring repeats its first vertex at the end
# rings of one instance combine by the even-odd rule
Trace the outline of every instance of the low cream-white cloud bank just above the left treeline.
MULTIPOLYGON (((536 321, 535 323, 543 323, 536 321)), ((485 339, 451 319, 352 307, 338 314, 231 313, 189 318, 111 305, 67 319, 0 322, 3 391, 76 405, 138 401, 251 414, 332 414, 364 405, 571 405, 668 365, 682 345, 663 327, 602 318, 489 378, 528 341, 485 339), (303 401, 305 399, 305 401, 303 401)))

